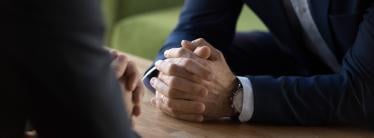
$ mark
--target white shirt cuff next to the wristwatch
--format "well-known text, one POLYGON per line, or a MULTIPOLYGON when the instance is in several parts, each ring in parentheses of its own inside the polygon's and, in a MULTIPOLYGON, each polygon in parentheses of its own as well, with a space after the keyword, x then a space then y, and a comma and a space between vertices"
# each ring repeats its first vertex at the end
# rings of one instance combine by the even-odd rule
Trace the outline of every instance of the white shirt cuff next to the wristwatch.
POLYGON ((239 115, 239 120, 240 122, 248 122, 251 120, 254 112, 252 83, 247 77, 238 76, 238 79, 243 86, 243 106, 239 115))

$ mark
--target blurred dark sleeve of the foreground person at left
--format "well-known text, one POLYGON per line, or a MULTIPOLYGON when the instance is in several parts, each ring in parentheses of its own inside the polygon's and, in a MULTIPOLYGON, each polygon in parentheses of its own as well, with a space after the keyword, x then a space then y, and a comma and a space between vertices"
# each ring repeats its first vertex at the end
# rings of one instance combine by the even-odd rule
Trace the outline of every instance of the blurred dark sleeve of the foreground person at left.
POLYGON ((2 136, 22 135, 30 120, 41 138, 135 137, 102 47, 98 0, 0 5, 2 136))

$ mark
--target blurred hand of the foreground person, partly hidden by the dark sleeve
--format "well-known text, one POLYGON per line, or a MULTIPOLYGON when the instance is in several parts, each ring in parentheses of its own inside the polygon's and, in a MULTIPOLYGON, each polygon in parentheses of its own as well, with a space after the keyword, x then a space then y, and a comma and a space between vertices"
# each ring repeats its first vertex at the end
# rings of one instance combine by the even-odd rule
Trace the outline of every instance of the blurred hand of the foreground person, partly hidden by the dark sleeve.
POLYGON ((143 84, 134 62, 129 61, 124 53, 110 50, 114 60, 112 68, 120 82, 120 86, 130 116, 139 116, 141 113, 141 99, 144 96, 143 84))

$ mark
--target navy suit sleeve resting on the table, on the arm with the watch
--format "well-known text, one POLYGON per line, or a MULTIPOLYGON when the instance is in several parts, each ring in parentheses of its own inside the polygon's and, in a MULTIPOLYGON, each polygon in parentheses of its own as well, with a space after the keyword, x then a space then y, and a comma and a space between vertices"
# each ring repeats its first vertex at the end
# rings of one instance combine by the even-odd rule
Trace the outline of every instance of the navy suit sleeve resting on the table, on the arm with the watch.
POLYGON ((248 76, 252 121, 280 124, 374 124, 374 5, 368 8, 339 73, 311 77, 248 76))

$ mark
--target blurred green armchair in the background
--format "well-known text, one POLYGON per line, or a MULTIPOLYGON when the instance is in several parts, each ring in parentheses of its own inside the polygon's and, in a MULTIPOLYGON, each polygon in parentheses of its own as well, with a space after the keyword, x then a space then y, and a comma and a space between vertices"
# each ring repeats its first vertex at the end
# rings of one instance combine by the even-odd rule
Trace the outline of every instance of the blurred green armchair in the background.
MULTIPOLYGON (((183 0, 104 0, 109 46, 143 58, 155 58, 178 21, 183 0)), ((247 7, 237 30, 266 30, 247 7)))

